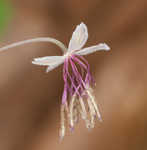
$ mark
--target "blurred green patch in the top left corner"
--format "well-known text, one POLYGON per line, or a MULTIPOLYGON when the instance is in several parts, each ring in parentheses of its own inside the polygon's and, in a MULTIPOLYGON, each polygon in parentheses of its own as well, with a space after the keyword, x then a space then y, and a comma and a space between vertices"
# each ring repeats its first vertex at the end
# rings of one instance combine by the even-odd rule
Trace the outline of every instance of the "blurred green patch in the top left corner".
POLYGON ((6 0, 0 0, 0 34, 5 31, 10 20, 11 13, 10 3, 6 0))

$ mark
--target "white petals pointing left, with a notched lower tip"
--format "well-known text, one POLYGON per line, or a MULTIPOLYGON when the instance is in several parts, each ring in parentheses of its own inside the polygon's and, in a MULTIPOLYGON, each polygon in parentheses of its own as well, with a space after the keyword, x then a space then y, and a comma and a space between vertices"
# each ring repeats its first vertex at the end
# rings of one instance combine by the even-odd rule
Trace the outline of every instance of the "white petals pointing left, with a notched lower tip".
POLYGON ((32 64, 48 66, 46 71, 49 72, 52 69, 58 67, 63 62, 64 62, 63 56, 47 56, 47 57, 35 58, 34 61, 32 61, 32 64))

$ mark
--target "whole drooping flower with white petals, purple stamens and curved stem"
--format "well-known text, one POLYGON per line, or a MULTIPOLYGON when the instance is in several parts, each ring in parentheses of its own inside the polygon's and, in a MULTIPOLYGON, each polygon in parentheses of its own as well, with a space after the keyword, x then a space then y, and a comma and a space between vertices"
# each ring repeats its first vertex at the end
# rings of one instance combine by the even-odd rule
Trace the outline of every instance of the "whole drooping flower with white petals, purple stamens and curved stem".
POLYGON ((35 65, 47 66, 47 72, 64 64, 64 90, 61 102, 59 133, 61 138, 65 135, 66 124, 68 124, 71 131, 73 131, 75 124, 80 118, 85 121, 87 128, 94 128, 96 118, 100 121, 102 120, 93 92, 95 81, 90 72, 90 66, 83 55, 88 55, 99 50, 108 51, 110 48, 105 43, 83 48, 87 39, 87 27, 84 23, 81 23, 73 32, 68 48, 53 38, 35 38, 0 48, 0 51, 4 51, 26 43, 52 42, 63 50, 62 56, 46 56, 35 58, 32 61, 35 65))

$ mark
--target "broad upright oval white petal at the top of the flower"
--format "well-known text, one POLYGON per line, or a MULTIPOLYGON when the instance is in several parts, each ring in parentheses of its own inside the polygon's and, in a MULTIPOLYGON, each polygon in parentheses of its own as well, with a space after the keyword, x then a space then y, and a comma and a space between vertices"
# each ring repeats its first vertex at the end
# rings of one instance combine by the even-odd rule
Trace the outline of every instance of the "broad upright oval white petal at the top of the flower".
POLYGON ((88 39, 87 26, 84 23, 78 25, 72 34, 72 38, 69 42, 68 50, 80 50, 88 39))

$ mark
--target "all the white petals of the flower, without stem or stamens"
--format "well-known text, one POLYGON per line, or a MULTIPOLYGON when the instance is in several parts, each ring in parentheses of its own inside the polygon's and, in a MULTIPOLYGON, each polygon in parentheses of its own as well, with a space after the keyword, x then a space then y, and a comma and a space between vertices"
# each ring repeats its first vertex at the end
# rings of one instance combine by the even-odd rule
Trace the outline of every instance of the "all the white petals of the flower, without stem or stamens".
POLYGON ((69 42, 67 51, 63 56, 46 56, 35 58, 32 63, 35 65, 48 66, 47 72, 53 70, 64 63, 64 60, 70 55, 88 55, 99 50, 110 50, 110 47, 105 43, 100 43, 91 47, 83 48, 88 39, 88 30, 84 23, 78 25, 73 32, 72 38, 69 42))

